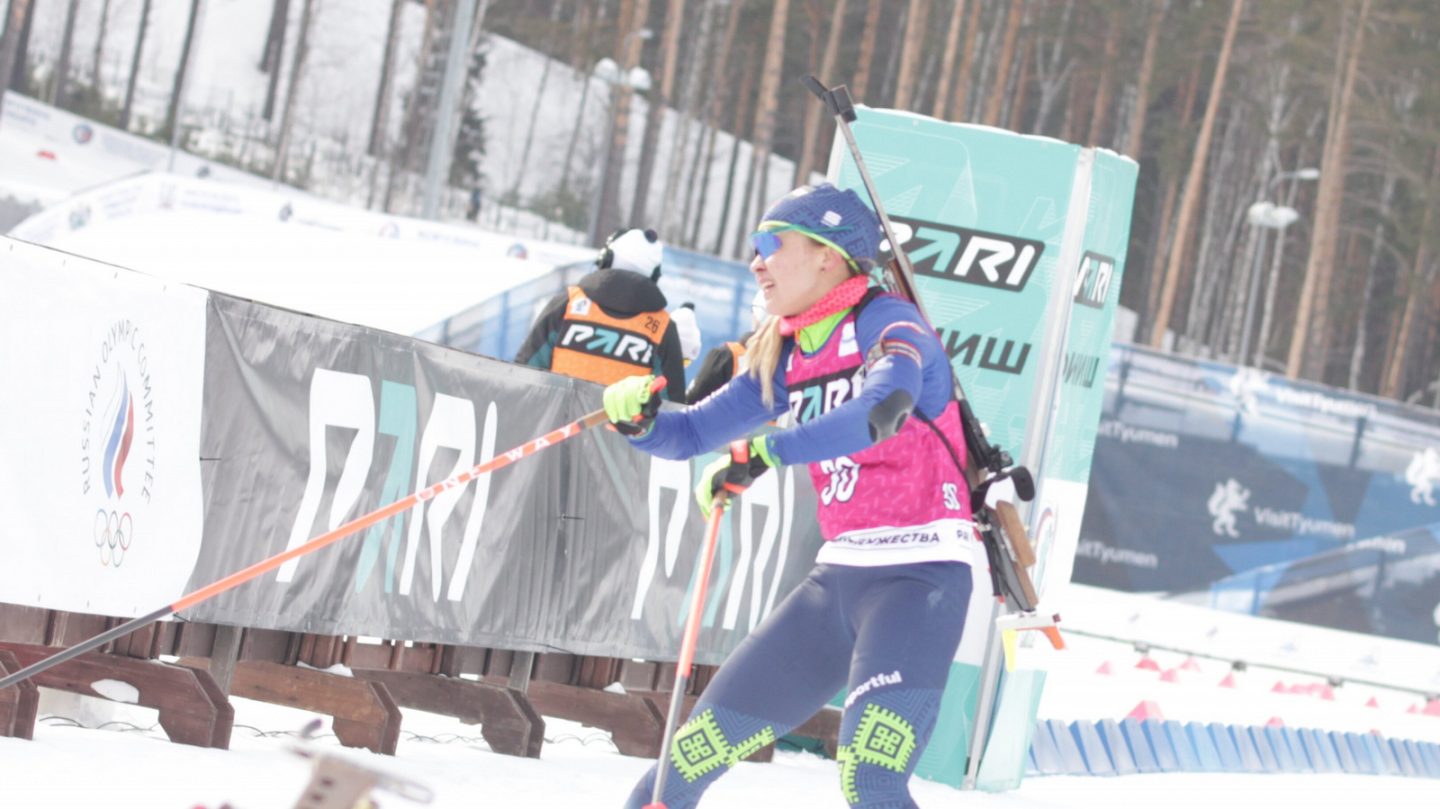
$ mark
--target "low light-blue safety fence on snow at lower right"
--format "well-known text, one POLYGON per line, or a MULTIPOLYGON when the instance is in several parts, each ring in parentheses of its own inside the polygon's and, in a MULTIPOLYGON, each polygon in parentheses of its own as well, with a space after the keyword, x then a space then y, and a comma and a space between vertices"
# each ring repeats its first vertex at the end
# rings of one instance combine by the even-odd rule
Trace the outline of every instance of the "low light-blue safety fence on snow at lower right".
POLYGON ((1279 726, 1125 718, 1040 720, 1032 776, 1352 773, 1440 779, 1440 744, 1279 726))

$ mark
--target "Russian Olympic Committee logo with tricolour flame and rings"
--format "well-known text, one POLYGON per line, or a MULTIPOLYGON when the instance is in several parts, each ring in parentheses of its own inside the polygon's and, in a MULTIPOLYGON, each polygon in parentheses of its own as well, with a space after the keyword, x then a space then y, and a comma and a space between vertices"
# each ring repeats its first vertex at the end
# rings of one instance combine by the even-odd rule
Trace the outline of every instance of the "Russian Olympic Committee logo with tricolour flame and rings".
POLYGON ((81 495, 102 567, 120 567, 156 487, 156 397, 145 340, 130 320, 105 331, 81 425, 81 495))

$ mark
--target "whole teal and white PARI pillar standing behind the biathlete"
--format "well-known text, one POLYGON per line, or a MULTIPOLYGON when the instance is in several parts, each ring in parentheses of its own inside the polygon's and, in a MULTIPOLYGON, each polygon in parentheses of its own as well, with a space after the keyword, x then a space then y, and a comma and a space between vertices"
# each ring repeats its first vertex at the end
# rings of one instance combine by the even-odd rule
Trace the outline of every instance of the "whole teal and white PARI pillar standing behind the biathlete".
MULTIPOLYGON (((1136 166, 1050 138, 857 112, 851 128, 865 167, 965 393, 991 440, 1037 472, 1028 524, 1041 543, 1041 609, 1054 612, 1084 511, 1136 166)), ((829 177, 864 190, 840 138, 829 177)), ((976 717, 989 714, 981 710, 985 668, 996 665, 986 664, 994 599, 984 570, 975 593, 940 723, 916 770, 953 785, 965 780, 976 717)), ((999 688, 984 756, 995 766, 982 787, 1018 785, 1043 685, 1043 672, 1017 671, 999 688)))

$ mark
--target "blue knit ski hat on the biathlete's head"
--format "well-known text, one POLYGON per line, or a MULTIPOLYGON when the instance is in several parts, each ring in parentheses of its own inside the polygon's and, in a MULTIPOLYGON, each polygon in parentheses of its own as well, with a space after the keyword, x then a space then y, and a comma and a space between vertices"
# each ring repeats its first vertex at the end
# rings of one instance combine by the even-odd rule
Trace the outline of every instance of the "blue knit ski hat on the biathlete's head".
POLYGON ((829 183, 801 186, 785 194, 765 212, 757 230, 798 230, 840 250, 857 269, 861 259, 876 261, 884 238, 880 219, 860 194, 829 183))

